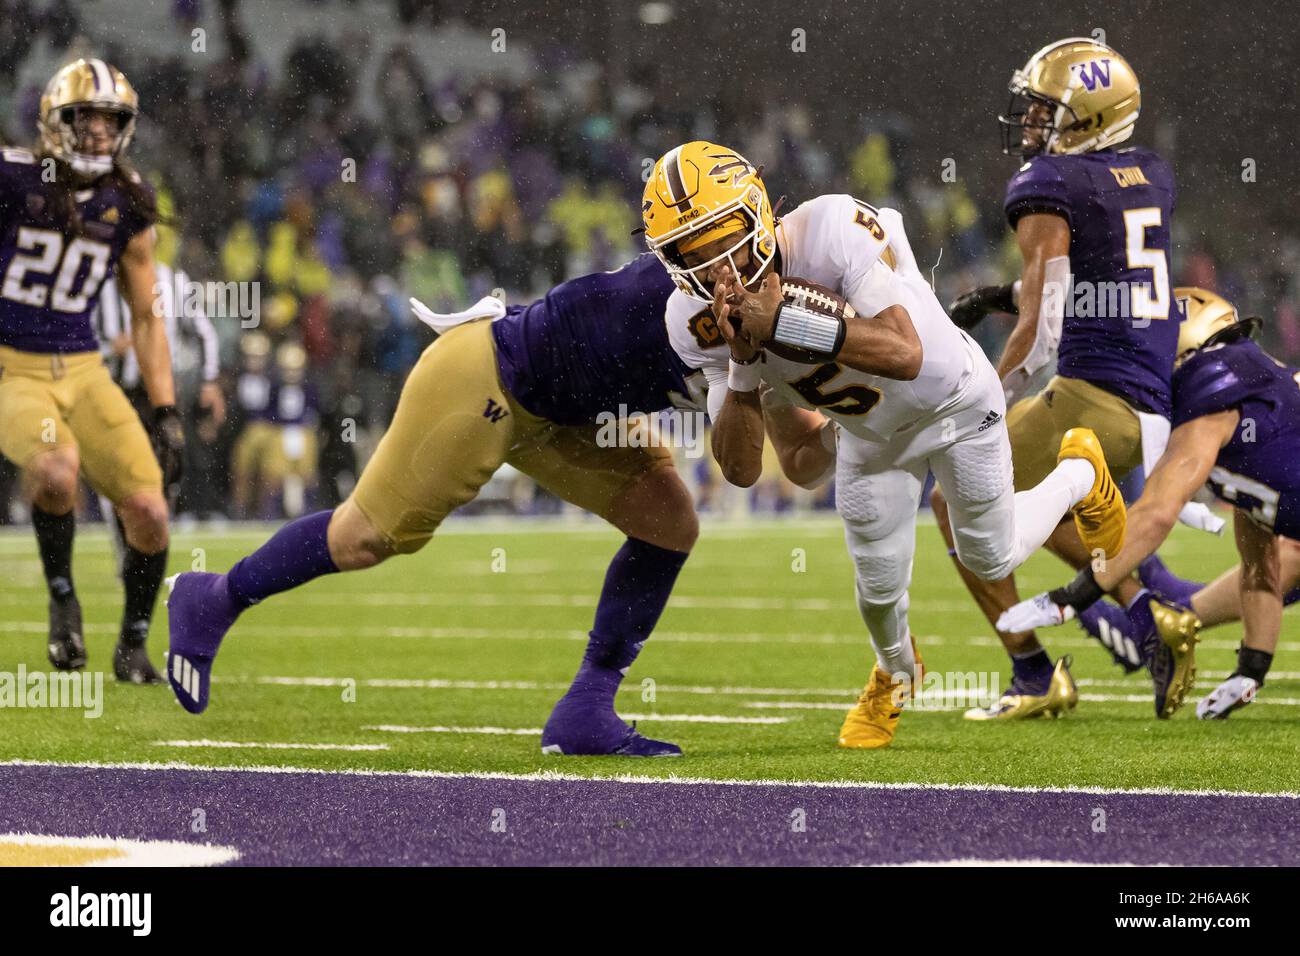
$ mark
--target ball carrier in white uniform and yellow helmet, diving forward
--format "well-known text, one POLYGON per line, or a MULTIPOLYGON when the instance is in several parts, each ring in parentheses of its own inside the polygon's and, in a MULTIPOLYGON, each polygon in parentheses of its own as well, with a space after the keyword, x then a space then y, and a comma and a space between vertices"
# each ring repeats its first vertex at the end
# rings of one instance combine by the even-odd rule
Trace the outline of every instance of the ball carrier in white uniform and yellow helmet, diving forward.
MULTIPOLYGON (((836 476, 876 652, 841 747, 888 745, 922 676, 907 585, 927 471, 948 496, 958 555, 980 578, 1010 574, 1071 510, 1089 546, 1118 553, 1123 501, 1088 429, 1062 440, 1041 484, 1014 492, 1001 382, 922 277, 897 212, 823 195, 777 224, 748 160, 694 142, 658 161, 642 219, 677 284, 668 337, 708 382, 727 479, 758 479, 764 420, 790 480, 836 476)), ((1067 659, 1052 688, 1045 713, 1076 701, 1067 659)))

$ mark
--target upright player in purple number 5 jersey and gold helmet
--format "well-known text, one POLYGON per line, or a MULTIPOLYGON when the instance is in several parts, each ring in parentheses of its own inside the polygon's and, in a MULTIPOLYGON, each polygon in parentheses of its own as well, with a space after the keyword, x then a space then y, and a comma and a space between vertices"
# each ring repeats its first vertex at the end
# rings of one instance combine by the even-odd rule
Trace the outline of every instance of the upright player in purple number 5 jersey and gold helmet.
MULTIPOLYGON (((1008 185, 1005 209, 1023 273, 1014 285, 967 293, 950 313, 962 328, 991 311, 1019 316, 997 363, 1017 490, 1052 470, 1061 436, 1075 425, 1096 432, 1121 480, 1143 463, 1143 418, 1167 431, 1182 316, 1169 284, 1174 176, 1150 150, 1123 146, 1141 94, 1132 68, 1110 47, 1084 38, 1048 44, 1014 73, 1010 88, 1020 108, 1000 117, 1005 151, 1024 161, 1008 185), (1054 354, 1054 377, 1017 401, 1054 354)), ((953 553, 944 489, 932 505, 953 553)), ((1069 522, 1046 546, 1076 568, 1096 557, 1069 522)), ((957 568, 989 623, 1018 601, 1014 578, 983 581, 959 562, 957 568)), ((1117 588, 1131 600, 1139 584, 1121 580, 1117 588)), ((1034 632, 1000 637, 1011 657, 1011 685, 992 708, 966 717, 1058 710, 1045 700, 1053 663, 1034 632)))

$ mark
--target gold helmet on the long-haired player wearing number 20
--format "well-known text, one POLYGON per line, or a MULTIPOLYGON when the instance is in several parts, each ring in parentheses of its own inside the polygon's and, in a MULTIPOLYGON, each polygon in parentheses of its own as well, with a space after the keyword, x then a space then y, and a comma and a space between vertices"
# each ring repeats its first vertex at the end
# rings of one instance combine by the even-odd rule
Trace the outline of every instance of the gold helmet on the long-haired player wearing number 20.
POLYGON ((138 112, 139 98, 120 69, 103 60, 77 60, 46 85, 38 120, 40 144, 47 153, 66 161, 78 173, 103 176, 131 144, 138 112), (117 116, 110 152, 96 155, 78 150, 78 109, 104 109, 117 116))

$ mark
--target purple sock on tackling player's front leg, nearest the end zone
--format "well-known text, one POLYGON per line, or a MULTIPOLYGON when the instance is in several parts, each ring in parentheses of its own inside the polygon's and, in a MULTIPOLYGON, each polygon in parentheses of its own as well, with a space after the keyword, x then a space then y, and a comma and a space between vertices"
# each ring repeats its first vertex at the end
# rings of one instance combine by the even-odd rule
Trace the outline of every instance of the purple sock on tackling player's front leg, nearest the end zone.
POLYGON ((614 704, 623 674, 659 622, 686 557, 634 537, 624 541, 604 574, 595 623, 569 696, 614 704))

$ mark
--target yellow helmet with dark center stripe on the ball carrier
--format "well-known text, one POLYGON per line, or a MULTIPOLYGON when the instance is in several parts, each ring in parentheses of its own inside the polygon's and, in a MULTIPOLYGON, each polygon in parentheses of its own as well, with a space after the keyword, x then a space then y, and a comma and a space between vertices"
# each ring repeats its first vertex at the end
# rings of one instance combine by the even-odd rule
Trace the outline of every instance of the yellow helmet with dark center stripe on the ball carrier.
POLYGON ((646 245, 686 295, 710 302, 708 271, 725 260, 746 287, 757 287, 776 256, 776 220, 759 170, 734 150, 697 140, 664 153, 641 202, 646 245), (732 242, 706 263, 684 254, 723 237, 732 242), (737 263, 741 250, 748 261, 737 263), (744 268, 741 268, 744 267, 744 268))

